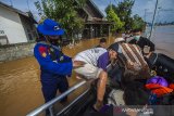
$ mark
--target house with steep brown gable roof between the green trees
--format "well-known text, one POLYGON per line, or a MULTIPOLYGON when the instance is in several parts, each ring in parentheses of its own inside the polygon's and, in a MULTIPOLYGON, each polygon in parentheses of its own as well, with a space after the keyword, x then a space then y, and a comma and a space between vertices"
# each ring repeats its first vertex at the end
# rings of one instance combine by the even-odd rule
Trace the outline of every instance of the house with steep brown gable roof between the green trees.
POLYGON ((82 35, 83 38, 109 36, 112 23, 107 21, 92 0, 86 0, 85 7, 77 12, 85 21, 85 28, 82 35))

